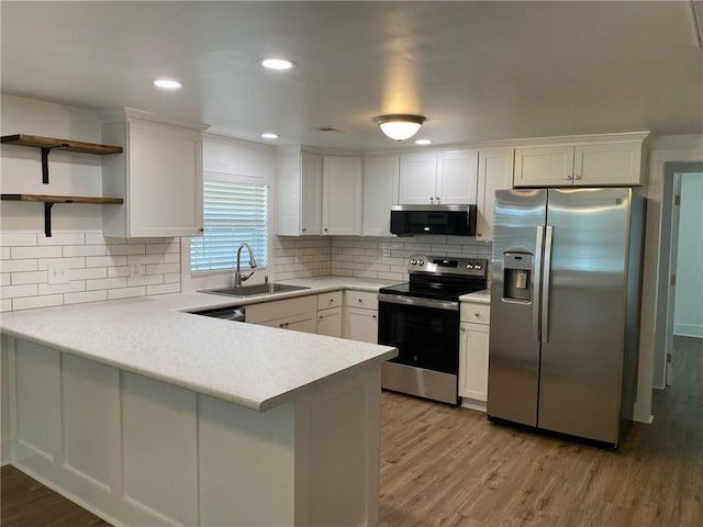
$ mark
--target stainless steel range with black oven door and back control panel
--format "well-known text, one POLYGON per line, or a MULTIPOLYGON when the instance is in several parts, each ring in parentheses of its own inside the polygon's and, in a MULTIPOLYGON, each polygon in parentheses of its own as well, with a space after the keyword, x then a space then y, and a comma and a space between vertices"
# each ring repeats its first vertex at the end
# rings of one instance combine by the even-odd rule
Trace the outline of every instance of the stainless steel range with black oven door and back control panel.
POLYGON ((459 296, 486 289, 487 264, 413 256, 410 282, 379 291, 378 343, 399 350, 383 365, 383 389, 459 404, 459 296))

